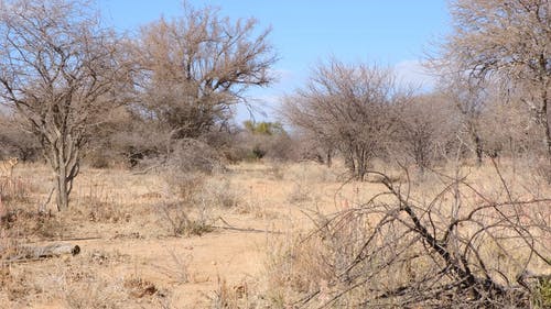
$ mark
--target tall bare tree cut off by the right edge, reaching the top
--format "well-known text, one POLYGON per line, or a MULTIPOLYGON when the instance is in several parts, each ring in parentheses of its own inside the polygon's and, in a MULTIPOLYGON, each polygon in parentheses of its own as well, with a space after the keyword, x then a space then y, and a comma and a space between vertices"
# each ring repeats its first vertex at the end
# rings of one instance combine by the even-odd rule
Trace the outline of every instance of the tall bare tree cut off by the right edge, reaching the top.
MULTIPOLYGON (((523 91, 551 162, 551 5, 548 0, 454 0, 444 59, 477 78, 523 91)), ((517 90, 519 91, 519 90, 517 90)))

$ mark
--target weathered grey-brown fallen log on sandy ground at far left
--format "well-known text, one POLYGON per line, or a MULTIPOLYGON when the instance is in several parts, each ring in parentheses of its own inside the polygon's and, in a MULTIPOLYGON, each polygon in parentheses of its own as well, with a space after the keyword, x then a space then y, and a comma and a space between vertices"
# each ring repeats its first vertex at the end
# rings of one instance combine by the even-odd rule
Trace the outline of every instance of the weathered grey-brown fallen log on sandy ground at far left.
POLYGON ((20 246, 13 255, 8 255, 8 262, 24 262, 35 261, 62 255, 77 255, 80 253, 80 247, 75 244, 54 243, 43 246, 20 246))

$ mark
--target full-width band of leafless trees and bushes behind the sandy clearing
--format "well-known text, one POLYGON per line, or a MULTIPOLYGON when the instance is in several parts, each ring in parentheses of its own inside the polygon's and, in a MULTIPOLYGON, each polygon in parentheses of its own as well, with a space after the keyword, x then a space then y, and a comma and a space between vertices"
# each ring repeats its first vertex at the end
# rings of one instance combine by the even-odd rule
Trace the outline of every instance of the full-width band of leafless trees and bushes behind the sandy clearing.
POLYGON ((282 100, 289 132, 234 121, 235 107, 250 103, 247 90, 274 80, 270 30, 256 20, 184 2, 181 16, 129 36, 93 7, 0 7, 0 155, 47 162, 60 209, 83 158, 186 173, 220 161, 342 157, 361 180, 376 158, 422 172, 457 154, 525 156, 551 175, 545 0, 452 1, 453 31, 426 59, 440 76, 430 93, 400 85, 389 67, 321 63, 282 100))

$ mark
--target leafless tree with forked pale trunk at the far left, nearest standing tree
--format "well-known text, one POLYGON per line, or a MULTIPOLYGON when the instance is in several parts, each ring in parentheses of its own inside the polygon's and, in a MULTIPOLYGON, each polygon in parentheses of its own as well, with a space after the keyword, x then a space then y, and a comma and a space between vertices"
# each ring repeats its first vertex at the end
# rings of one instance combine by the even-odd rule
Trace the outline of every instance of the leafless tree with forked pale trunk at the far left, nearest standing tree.
POLYGON ((68 207, 90 129, 126 99, 131 66, 118 52, 85 1, 2 2, 0 97, 40 140, 60 210, 68 207))

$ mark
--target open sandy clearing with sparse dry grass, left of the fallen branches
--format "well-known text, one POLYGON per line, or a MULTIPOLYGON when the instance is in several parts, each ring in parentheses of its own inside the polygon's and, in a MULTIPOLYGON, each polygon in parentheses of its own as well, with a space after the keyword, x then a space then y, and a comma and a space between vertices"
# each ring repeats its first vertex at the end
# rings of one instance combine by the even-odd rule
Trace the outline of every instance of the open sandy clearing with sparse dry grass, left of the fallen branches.
MULTIPOLYGON (((316 203, 335 212, 335 201, 347 203, 346 188, 335 196, 341 172, 306 164, 230 167, 208 176, 201 188, 202 195, 215 198, 202 214, 214 230, 175 238, 160 210, 169 199, 163 178, 127 170, 85 169, 69 213, 57 213, 51 203, 52 217, 46 216, 43 225, 24 224, 36 219, 23 218, 35 216, 51 177, 46 167, 18 166, 12 183, 30 191, 4 202, 4 208, 20 209, 9 233, 21 236, 6 236, 4 243, 66 242, 82 252, 7 265, 0 277, 0 307, 197 308, 209 307, 217 294, 226 293, 220 289, 250 293, 262 284, 258 278, 276 242, 298 227, 311 225, 301 211, 316 203), (219 205, 219 199, 233 205, 219 205)), ((196 212, 194 208, 186 211, 196 212)))

